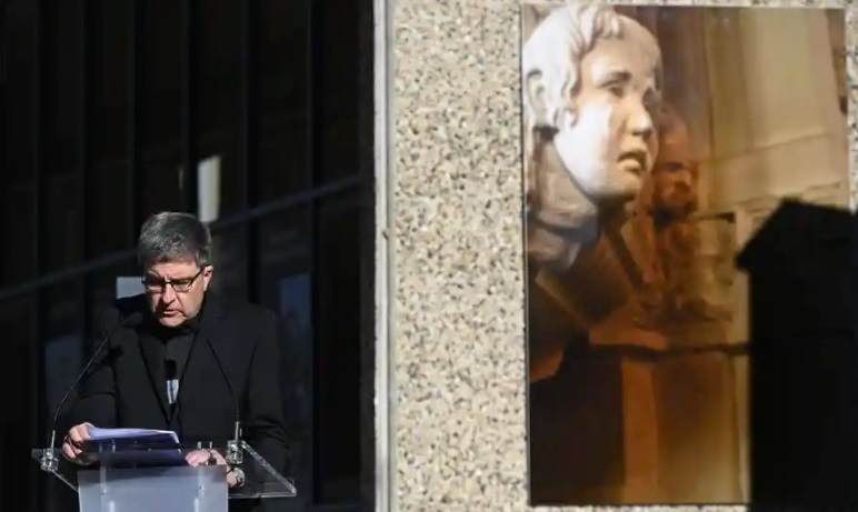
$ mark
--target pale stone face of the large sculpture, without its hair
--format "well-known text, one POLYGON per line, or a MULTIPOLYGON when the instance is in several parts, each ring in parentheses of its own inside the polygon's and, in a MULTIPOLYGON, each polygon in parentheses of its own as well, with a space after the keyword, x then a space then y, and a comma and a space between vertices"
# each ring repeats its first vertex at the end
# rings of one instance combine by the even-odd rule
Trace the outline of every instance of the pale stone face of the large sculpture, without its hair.
POLYGON ((622 39, 599 39, 581 60, 572 111, 555 135, 565 167, 597 201, 633 199, 658 153, 660 51, 639 24, 623 30, 622 39))

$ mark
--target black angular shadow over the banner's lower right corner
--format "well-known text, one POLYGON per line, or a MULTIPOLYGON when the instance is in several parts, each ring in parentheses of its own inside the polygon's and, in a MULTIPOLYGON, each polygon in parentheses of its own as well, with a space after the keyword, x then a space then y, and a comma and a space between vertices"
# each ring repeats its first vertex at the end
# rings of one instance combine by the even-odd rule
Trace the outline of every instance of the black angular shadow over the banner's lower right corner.
POLYGON ((754 511, 858 510, 855 234, 849 212, 787 200, 738 257, 750 280, 754 511))

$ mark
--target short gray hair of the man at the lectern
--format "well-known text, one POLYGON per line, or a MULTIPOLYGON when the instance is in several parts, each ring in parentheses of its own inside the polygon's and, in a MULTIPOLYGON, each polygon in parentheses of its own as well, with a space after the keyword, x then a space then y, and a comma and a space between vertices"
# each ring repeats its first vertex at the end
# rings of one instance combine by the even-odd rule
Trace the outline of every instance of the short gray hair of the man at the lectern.
POLYGON ((211 233, 190 213, 160 212, 140 229, 137 261, 142 268, 192 259, 198 267, 211 264, 211 233))

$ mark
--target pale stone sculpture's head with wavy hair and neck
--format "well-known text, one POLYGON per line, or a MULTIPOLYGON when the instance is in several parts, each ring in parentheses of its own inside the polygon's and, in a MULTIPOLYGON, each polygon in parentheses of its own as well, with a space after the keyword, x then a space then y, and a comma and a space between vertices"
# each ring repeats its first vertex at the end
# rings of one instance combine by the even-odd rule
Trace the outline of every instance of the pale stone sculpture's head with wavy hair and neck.
POLYGON ((640 191, 657 154, 661 57, 606 6, 551 12, 522 51, 530 258, 567 270, 640 191), (610 220, 608 220, 610 221, 610 220))

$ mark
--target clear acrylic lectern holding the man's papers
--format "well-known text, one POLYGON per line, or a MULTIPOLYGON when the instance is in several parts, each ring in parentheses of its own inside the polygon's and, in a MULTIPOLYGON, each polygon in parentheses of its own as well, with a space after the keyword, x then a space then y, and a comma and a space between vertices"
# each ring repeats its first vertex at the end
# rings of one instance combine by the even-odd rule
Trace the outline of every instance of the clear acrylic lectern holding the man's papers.
POLYGON ((293 498, 296 488, 249 444, 239 441, 245 474, 240 488, 227 484, 222 465, 191 468, 184 456, 194 450, 227 453, 227 446, 110 446, 87 451, 88 465, 68 462, 59 449, 32 451, 42 470, 78 493, 80 512, 227 512, 229 500, 293 498))

